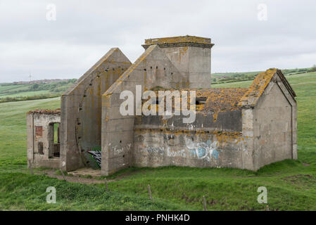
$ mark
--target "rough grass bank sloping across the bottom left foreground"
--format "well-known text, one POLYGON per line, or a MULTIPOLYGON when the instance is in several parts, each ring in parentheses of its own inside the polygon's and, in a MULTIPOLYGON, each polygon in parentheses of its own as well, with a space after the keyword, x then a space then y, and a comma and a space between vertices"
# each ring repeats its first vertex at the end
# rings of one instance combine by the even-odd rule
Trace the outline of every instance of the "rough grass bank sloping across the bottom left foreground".
POLYGON ((58 179, 7 173, 0 176, 0 210, 190 210, 163 199, 153 202, 142 196, 104 191, 104 188, 73 184, 58 179), (56 204, 46 203, 46 188, 56 188, 56 204))

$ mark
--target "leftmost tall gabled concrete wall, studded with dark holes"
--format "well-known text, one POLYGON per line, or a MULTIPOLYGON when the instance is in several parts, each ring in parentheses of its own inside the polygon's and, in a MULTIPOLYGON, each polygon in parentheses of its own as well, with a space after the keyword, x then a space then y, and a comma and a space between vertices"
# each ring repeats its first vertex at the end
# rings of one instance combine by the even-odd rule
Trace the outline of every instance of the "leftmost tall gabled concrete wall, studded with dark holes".
POLYGON ((61 97, 62 169, 95 166, 88 151, 101 146, 101 96, 130 65, 120 49, 110 49, 61 97))

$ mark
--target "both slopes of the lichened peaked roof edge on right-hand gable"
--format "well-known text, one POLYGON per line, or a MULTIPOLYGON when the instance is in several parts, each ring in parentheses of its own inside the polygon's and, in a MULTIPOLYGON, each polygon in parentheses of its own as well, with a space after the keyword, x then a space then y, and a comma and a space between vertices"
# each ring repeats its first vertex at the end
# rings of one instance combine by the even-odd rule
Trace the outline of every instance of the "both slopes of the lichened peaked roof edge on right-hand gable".
POLYGON ((291 88, 289 82, 284 77, 282 71, 276 68, 271 68, 269 70, 266 70, 265 72, 260 72, 260 74, 258 74, 257 77, 255 77, 248 91, 241 98, 239 106, 242 108, 253 108, 255 104, 258 102, 260 96, 263 94, 263 91, 265 91, 265 89, 267 88, 267 85, 270 83, 272 77, 276 74, 280 77, 284 86, 286 86, 286 89, 288 89, 291 96, 293 98, 296 97, 295 92, 291 88))

